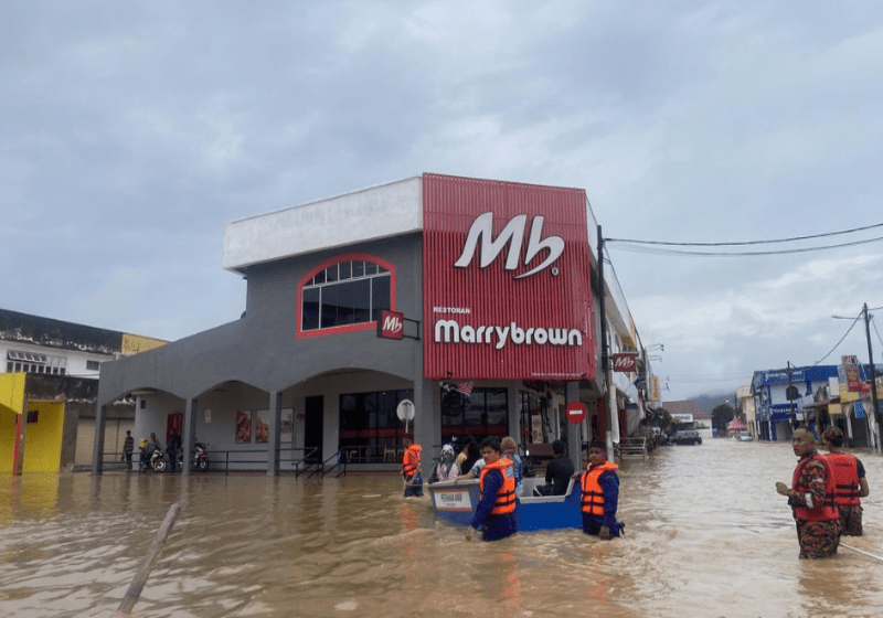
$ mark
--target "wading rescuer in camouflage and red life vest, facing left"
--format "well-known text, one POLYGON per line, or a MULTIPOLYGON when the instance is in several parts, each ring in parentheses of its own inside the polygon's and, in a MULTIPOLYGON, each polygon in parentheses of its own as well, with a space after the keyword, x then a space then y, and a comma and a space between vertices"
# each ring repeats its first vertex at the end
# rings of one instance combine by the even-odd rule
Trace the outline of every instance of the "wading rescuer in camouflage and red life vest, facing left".
POLYGON ((816 451, 816 439, 805 427, 794 430, 794 454, 799 457, 789 488, 776 483, 788 497, 797 524, 801 558, 826 558, 837 554, 840 522, 834 503, 834 478, 825 458, 816 451))

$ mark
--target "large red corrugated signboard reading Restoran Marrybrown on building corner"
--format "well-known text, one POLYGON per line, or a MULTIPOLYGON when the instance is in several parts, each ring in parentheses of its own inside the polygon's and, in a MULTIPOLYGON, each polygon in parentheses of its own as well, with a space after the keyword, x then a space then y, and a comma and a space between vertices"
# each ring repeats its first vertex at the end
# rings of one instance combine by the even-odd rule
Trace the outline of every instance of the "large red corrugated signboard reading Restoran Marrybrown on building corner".
POLYGON ((424 174, 427 377, 595 377, 587 204, 579 189, 424 174))

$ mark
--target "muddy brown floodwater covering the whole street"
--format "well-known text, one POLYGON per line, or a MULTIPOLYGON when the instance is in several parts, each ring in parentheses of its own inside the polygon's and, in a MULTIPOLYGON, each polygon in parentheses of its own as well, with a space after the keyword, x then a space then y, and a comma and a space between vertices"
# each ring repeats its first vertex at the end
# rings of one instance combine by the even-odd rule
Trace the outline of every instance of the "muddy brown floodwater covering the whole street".
MULTIPOLYGON (((883 556, 883 460, 860 454, 883 556)), ((626 536, 468 543, 397 477, 0 477, 0 616, 104 617, 169 507, 183 509, 135 611, 151 617, 876 617, 883 563, 798 561, 789 445, 706 440, 628 459, 626 536)))

